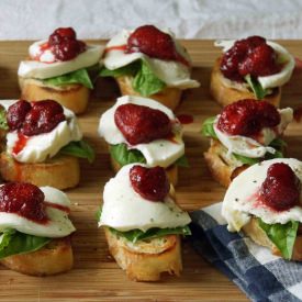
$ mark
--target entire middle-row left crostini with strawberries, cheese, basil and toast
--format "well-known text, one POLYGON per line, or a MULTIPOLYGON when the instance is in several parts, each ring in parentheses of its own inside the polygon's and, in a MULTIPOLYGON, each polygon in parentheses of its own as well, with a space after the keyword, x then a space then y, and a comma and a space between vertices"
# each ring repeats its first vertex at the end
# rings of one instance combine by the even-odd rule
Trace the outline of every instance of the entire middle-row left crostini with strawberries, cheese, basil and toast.
POLYGON ((0 155, 3 179, 57 189, 77 186, 78 158, 92 161, 93 150, 82 141, 76 115, 53 100, 0 103, 4 108, 0 128, 5 132, 0 155))

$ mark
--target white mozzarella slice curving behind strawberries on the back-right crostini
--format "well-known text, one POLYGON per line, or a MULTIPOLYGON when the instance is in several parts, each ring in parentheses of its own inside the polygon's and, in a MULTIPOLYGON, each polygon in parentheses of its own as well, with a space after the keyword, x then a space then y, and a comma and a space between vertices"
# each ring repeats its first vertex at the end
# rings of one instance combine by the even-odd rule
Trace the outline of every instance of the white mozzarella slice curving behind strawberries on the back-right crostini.
MULTIPOLYGON (((235 40, 221 40, 216 41, 214 45, 222 47, 223 52, 226 53, 233 47, 235 42, 235 40)), ((280 87, 287 83, 291 78, 295 64, 293 56, 283 46, 271 41, 267 41, 267 44, 276 51, 281 60, 284 61, 284 65, 278 74, 257 78, 264 89, 280 87)))

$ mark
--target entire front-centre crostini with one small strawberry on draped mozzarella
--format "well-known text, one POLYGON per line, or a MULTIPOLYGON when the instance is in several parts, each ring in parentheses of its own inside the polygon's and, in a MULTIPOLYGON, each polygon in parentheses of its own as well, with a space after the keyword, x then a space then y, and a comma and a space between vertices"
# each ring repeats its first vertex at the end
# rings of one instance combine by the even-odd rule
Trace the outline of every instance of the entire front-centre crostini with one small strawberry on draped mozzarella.
POLYGON ((190 216, 175 203, 161 167, 124 166, 104 187, 99 226, 119 266, 136 281, 156 281, 161 272, 179 276, 180 235, 190 216))

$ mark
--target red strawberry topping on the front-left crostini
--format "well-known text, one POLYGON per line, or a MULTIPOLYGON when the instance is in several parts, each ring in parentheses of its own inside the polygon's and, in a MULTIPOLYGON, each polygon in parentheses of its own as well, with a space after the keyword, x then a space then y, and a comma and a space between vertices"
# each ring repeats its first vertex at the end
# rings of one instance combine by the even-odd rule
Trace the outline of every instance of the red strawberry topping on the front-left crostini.
POLYGON ((0 212, 15 213, 27 220, 46 223, 44 193, 31 183, 10 182, 0 187, 0 212))

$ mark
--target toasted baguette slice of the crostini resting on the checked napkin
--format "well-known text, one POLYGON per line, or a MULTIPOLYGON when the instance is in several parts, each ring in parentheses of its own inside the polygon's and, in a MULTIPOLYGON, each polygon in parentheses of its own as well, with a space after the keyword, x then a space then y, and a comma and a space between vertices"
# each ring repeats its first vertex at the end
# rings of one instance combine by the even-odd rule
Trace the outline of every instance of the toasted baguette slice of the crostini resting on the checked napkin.
MULTIPOLYGON (((243 231, 256 244, 268 247, 271 250, 271 254, 282 257, 278 247, 269 239, 266 232, 259 226, 256 217, 253 217, 249 223, 243 227, 243 231)), ((293 246, 291 260, 302 261, 302 235, 299 233, 293 246)))

